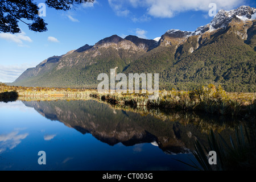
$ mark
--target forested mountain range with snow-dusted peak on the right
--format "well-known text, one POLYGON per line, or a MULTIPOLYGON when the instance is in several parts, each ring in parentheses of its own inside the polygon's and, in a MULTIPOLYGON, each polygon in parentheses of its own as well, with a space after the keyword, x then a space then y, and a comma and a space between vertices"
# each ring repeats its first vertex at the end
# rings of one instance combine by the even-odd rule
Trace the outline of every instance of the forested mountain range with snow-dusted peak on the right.
POLYGON ((11 85, 97 88, 100 73, 159 73, 160 89, 221 85, 256 91, 256 9, 220 10, 195 31, 168 30, 154 40, 112 35, 94 46, 52 56, 28 68, 11 85))

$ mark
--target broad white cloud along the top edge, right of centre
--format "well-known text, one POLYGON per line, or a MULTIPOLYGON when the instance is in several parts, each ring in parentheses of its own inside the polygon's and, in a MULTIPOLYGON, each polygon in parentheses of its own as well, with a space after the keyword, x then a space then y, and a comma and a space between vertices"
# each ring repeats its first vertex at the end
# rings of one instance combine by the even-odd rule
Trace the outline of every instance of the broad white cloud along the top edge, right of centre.
MULTIPOLYGON (((132 14, 132 11, 128 9, 129 5, 133 8, 143 7, 146 12, 144 14, 157 18, 172 18, 175 15, 185 11, 209 11, 209 4, 214 2, 217 5, 217 10, 234 9, 237 6, 242 5, 245 0, 108 0, 110 7, 117 13, 120 11, 127 11, 132 14)), ((134 21, 137 19, 133 18, 134 21)))

